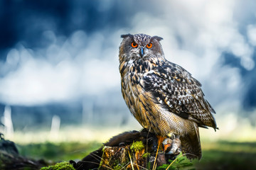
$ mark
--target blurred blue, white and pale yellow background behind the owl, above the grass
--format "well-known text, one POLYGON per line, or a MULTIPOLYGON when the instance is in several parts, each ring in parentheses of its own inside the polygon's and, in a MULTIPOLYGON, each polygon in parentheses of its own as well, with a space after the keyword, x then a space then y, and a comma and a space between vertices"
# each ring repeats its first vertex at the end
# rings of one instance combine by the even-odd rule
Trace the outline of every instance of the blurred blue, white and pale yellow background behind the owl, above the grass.
POLYGON ((121 94, 121 34, 159 35, 166 59, 201 81, 220 130, 255 142, 256 3, 0 1, 0 132, 21 144, 105 142, 140 130, 121 94))

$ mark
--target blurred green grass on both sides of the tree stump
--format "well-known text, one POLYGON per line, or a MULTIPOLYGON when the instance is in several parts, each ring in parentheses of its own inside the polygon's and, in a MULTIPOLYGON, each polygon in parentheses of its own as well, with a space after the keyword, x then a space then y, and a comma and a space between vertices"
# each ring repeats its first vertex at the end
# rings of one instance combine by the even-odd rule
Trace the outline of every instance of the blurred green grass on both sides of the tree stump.
MULTIPOLYGON (((80 160, 100 146, 98 142, 44 142, 18 145, 18 150, 33 159, 68 162, 70 159, 80 160)), ((256 142, 203 142, 202 149, 202 159, 193 161, 193 166, 188 169, 256 169, 256 142)), ((173 164, 172 169, 184 169, 178 166, 179 163, 173 164)))

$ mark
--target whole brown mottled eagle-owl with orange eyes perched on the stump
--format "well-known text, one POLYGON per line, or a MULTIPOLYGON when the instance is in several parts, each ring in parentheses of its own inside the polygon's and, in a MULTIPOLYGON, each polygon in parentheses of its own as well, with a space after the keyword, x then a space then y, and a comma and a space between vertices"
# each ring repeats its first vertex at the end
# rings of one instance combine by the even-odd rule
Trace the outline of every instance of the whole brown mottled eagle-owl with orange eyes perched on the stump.
POLYGON ((163 38, 145 34, 121 38, 119 72, 129 110, 149 131, 181 140, 189 159, 201 159, 198 127, 218 128, 200 82, 165 59, 159 42, 163 38))

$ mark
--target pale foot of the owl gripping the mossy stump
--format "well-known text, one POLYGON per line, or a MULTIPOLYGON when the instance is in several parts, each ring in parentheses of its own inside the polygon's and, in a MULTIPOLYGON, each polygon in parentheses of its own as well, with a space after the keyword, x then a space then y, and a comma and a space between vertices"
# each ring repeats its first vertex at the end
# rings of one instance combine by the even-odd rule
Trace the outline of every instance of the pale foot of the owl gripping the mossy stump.
POLYGON ((166 159, 174 160, 181 152, 181 140, 178 137, 174 138, 174 140, 166 138, 162 145, 166 153, 166 159))

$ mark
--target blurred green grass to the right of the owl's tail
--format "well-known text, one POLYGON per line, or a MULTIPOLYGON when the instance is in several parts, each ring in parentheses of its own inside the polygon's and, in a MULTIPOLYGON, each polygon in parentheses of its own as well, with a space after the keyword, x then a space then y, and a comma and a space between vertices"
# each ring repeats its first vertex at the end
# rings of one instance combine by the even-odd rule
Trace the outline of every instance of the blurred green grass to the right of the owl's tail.
POLYGON ((256 142, 203 143, 203 157, 196 169, 256 169, 256 142))

